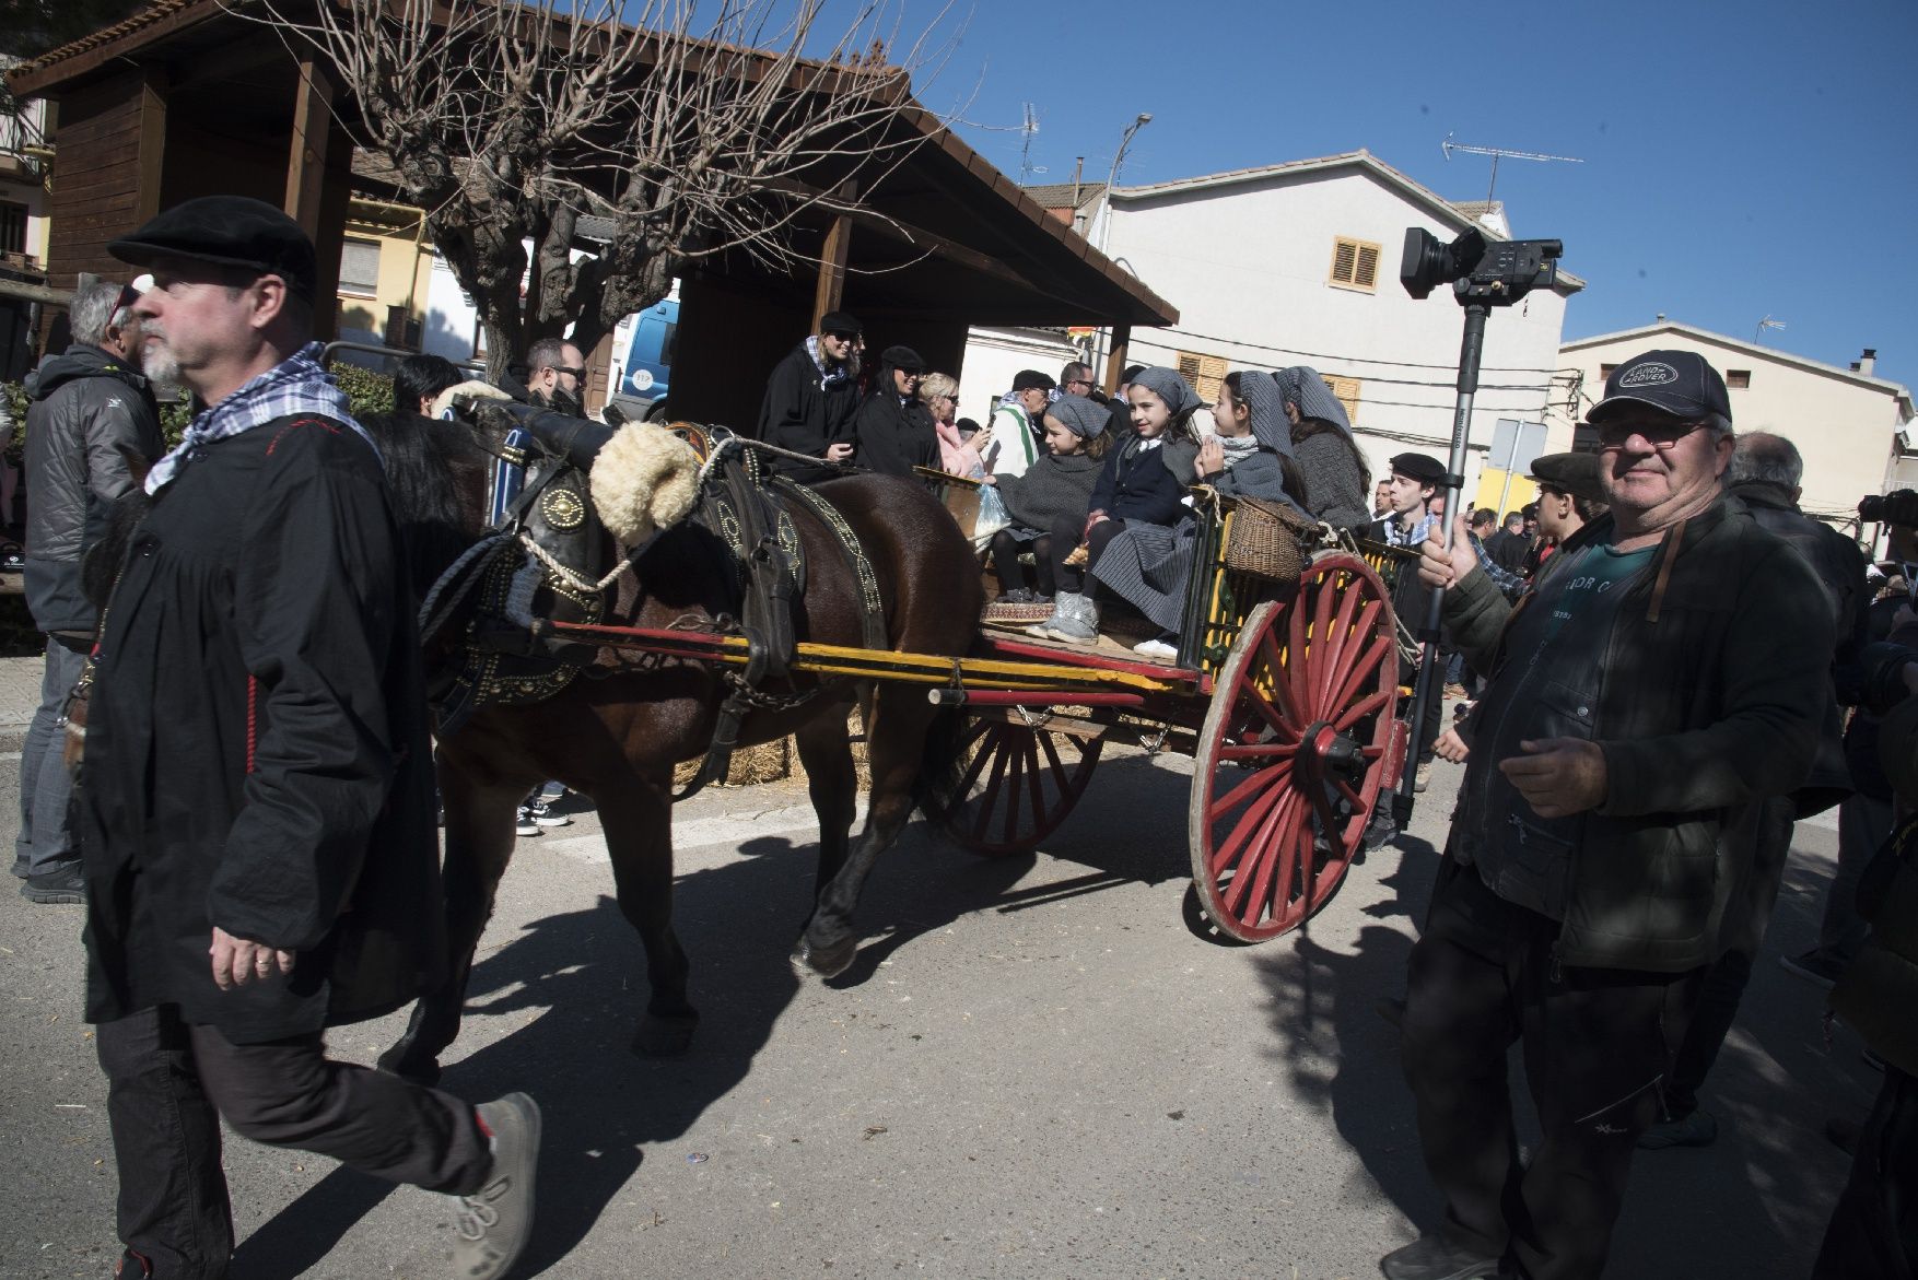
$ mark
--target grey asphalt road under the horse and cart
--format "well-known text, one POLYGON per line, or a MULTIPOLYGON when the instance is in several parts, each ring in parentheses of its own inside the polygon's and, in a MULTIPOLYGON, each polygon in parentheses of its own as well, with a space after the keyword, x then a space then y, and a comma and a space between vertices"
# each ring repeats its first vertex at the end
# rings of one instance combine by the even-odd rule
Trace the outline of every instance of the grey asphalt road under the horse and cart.
MULTIPOLYGON (((15 757, 17 759, 17 757, 15 757)), ((0 759, 0 812, 13 763, 0 759)), ((627 1054, 641 952, 591 814, 520 841, 445 1085, 545 1108, 520 1276, 1373 1276, 1437 1203, 1391 1029, 1458 772, 1293 937, 1183 924, 1187 761, 1109 757, 1034 858, 923 826, 873 876, 832 983, 786 949, 811 885, 790 786, 679 814, 694 1050, 627 1054)), ((4 818, 8 839, 12 816, 4 818)), ((1717 1146, 1640 1155, 1609 1276, 1805 1276, 1845 1173, 1826 1115, 1878 1077, 1780 950, 1814 931, 1836 832, 1801 826, 1707 1096, 1717 1146)), ((0 1276, 107 1276, 113 1155, 81 1021, 81 910, 0 893, 0 1276)), ((372 1062, 399 1019, 341 1029, 372 1062)), ((1521 1104, 1521 1113, 1527 1106, 1521 1104)), ((447 1201, 230 1138, 234 1276, 445 1276, 447 1201)))

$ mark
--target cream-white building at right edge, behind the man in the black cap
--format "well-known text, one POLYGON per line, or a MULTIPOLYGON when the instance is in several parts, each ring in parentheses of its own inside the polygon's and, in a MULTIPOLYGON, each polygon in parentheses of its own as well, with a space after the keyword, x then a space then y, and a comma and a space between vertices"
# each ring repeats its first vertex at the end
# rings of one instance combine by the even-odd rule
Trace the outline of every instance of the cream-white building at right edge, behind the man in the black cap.
MULTIPOLYGON (((1580 414, 1605 387, 1613 366, 1651 351, 1696 351, 1724 376, 1738 431, 1774 431, 1805 456, 1809 515, 1834 523, 1857 519, 1859 498, 1912 485, 1914 462, 1903 460, 1912 431, 1912 393, 1872 374, 1866 351, 1849 370, 1711 333, 1676 320, 1636 330, 1580 337, 1559 349, 1561 364, 1577 370, 1580 414)), ((1561 425, 1569 427, 1571 420, 1561 425)))

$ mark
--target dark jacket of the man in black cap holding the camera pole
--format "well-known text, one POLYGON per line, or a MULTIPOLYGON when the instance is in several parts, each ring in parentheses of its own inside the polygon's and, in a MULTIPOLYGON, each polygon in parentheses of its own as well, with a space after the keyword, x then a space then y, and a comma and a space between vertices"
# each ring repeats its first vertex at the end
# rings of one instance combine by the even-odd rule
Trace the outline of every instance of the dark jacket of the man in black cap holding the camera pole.
MULTIPOLYGON (((1579 544, 1611 531, 1605 515, 1579 544)), ((1577 560, 1554 556, 1517 606, 1477 569, 1444 596, 1446 629, 1488 673, 1448 851, 1506 901, 1559 916, 1563 964, 1682 973, 1719 956, 1730 893, 1749 872, 1749 841, 1724 839, 1740 811, 1811 776, 1832 615, 1803 558, 1720 498, 1665 535, 1609 632, 1569 636, 1590 644, 1517 703, 1511 674, 1531 655, 1506 651, 1508 625, 1550 602, 1577 560), (1521 736, 1596 742, 1598 809, 1569 826, 1536 820, 1498 768, 1521 736)))

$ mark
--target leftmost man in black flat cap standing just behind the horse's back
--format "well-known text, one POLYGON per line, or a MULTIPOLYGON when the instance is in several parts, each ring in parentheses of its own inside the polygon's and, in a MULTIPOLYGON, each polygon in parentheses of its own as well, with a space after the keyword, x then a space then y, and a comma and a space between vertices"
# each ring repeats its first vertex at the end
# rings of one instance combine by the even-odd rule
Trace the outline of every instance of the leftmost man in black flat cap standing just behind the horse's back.
MULTIPOLYGON (((786 353, 765 379, 758 435, 767 445, 821 458, 852 462, 852 420, 859 410, 859 322, 844 310, 819 318, 819 331, 786 353)), ((798 458, 773 458, 773 469, 802 485, 840 475, 834 468, 798 458)))

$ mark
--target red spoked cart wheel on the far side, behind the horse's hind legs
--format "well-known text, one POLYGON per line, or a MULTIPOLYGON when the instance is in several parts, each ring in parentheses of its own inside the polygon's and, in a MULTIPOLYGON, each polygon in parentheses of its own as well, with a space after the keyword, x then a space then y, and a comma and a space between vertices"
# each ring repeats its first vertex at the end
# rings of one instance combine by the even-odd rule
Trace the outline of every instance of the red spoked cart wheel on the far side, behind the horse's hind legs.
POLYGON ((963 847, 988 858, 1032 853, 1059 830, 1099 765, 1101 726, 1017 707, 967 713, 957 766, 926 805, 963 847))

